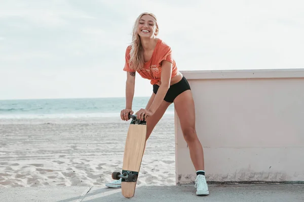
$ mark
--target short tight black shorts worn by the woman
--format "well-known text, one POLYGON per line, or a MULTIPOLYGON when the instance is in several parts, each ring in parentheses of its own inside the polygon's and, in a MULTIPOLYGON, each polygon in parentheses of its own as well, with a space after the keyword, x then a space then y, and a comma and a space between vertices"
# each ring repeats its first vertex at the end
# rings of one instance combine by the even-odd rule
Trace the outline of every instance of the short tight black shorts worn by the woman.
MULTIPOLYGON (((159 89, 159 85, 154 84, 153 85, 153 92, 156 94, 158 89, 159 89)), ((168 89, 164 100, 168 103, 173 103, 175 97, 177 97, 177 95, 179 95, 180 93, 182 93, 183 91, 186 90, 191 90, 190 85, 187 81, 187 79, 183 76, 182 79, 171 85, 170 88, 168 89)))

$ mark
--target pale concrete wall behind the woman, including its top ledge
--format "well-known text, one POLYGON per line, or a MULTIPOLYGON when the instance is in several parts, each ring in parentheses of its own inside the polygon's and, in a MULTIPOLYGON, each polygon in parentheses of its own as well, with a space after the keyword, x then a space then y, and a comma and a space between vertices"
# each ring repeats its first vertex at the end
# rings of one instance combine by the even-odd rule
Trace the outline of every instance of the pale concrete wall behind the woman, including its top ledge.
MULTIPOLYGON (((304 181, 304 69, 181 71, 212 182, 304 181)), ((175 113, 176 183, 195 168, 175 113)))

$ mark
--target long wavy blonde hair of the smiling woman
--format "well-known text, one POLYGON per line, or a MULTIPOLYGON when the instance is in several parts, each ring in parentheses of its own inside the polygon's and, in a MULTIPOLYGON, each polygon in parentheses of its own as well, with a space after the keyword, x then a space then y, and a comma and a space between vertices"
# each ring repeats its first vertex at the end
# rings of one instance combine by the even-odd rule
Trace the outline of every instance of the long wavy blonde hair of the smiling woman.
POLYGON ((133 26, 132 32, 132 43, 131 43, 131 52, 130 52, 130 68, 133 70, 140 70, 144 66, 144 59, 143 59, 143 48, 140 42, 140 37, 138 35, 138 24, 139 20, 143 15, 150 15, 155 18, 156 20, 156 33, 158 33, 159 26, 157 23, 157 18, 153 13, 142 13, 140 14, 133 26))

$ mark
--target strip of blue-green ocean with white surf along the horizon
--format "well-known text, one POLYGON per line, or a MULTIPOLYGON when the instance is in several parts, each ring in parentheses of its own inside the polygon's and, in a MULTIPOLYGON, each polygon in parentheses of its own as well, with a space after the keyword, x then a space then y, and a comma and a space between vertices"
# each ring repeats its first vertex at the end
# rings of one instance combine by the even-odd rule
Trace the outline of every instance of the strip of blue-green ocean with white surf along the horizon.
MULTIPOLYGON (((134 97, 134 114, 149 97, 134 97)), ((125 97, 0 100, 0 119, 120 117, 125 97)), ((174 115, 171 104, 165 116, 174 115)))

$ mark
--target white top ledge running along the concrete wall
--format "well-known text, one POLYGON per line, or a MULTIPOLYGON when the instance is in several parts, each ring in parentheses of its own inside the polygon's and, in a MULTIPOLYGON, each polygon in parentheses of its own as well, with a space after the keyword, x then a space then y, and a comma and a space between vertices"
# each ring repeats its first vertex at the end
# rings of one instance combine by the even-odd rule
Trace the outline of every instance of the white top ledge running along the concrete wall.
POLYGON ((304 68, 257 70, 180 70, 180 72, 187 79, 304 78, 304 68))

